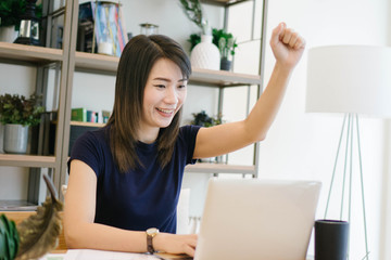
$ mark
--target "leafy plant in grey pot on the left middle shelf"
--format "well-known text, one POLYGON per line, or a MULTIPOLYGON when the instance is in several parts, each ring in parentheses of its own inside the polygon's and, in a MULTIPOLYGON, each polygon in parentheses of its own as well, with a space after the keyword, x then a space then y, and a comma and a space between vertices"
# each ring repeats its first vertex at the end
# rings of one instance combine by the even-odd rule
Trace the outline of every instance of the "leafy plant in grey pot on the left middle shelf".
POLYGON ((40 98, 26 99, 18 94, 0 95, 0 122, 4 125, 4 152, 25 154, 29 126, 40 122, 45 107, 38 105, 40 98))

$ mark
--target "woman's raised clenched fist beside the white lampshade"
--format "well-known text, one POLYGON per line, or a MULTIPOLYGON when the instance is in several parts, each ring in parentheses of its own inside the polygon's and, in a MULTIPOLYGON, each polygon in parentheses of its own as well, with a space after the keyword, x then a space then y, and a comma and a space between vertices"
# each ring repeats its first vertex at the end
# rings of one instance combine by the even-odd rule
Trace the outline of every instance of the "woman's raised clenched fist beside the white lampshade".
POLYGON ((277 63, 292 69, 300 61, 305 40, 285 23, 280 23, 272 34, 270 47, 277 63))

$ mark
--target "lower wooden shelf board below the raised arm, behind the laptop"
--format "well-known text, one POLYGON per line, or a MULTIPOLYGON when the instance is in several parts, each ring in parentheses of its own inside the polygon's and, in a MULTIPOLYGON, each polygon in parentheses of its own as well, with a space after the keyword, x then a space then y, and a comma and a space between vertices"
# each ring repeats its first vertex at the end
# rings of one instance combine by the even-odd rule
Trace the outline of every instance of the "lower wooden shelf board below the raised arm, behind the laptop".
POLYGON ((245 173, 245 174, 250 173, 250 174, 255 174, 255 167, 254 166, 197 162, 195 165, 186 166, 185 171, 186 172, 200 172, 200 173, 245 173))

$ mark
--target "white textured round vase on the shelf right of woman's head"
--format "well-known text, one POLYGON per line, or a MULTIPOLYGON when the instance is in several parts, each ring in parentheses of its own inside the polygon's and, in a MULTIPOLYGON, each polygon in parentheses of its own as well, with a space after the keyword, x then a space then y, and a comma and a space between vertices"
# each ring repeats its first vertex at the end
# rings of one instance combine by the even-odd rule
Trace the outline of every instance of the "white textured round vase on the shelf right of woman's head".
POLYGON ((190 54, 190 62, 193 68, 206 68, 219 70, 219 51, 212 43, 212 36, 201 36, 201 42, 198 43, 190 54))

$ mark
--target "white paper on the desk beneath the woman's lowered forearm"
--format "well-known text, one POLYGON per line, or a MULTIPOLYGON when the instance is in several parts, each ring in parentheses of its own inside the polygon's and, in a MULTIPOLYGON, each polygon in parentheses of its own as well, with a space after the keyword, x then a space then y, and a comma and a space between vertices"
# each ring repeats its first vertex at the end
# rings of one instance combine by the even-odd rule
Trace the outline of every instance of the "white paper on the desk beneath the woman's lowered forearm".
POLYGON ((159 260, 147 253, 103 251, 92 249, 68 249, 63 260, 159 260))

